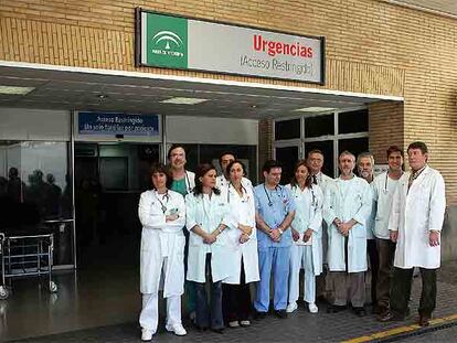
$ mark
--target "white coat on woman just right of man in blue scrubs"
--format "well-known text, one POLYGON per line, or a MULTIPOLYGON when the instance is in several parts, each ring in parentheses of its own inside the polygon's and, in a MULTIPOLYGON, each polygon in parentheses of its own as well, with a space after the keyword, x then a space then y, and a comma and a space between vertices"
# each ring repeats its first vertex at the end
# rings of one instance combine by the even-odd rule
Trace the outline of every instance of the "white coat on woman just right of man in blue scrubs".
POLYGON ((320 275, 322 272, 322 191, 317 184, 311 184, 311 189, 305 189, 304 192, 290 184, 286 187, 290 190, 296 204, 291 227, 300 234, 300 239, 308 228, 313 232, 311 236, 312 267, 315 275, 320 275))

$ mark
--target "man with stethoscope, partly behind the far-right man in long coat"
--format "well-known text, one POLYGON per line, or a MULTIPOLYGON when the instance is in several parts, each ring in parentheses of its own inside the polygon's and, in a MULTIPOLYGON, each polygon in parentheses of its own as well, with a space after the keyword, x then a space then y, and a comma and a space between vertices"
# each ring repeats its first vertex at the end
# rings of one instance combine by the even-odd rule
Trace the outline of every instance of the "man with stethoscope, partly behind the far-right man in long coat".
POLYGON ((395 243, 389 234, 389 217, 392 200, 400 178, 403 175, 403 150, 396 146, 386 151, 389 170, 376 178, 372 183, 373 197, 376 204, 374 213, 374 236, 379 256, 379 272, 376 282, 376 310, 380 318, 390 307, 391 275, 395 255, 395 243))

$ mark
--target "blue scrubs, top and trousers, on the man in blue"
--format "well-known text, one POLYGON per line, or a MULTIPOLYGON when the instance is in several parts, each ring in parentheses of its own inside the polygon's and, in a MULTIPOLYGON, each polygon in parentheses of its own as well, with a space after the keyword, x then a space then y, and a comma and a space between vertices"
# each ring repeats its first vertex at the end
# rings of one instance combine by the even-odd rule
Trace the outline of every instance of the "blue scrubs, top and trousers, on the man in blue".
MULTIPOLYGON (((295 202, 290 190, 278 185, 276 190, 268 190, 264 183, 254 187, 255 206, 257 213, 270 227, 278 227, 286 216, 295 211, 295 202)), ((257 229, 257 248, 261 281, 254 308, 257 312, 268 312, 269 307, 269 278, 274 274, 274 308, 285 310, 287 307, 287 292, 289 279, 290 246, 293 244, 291 231, 284 232, 278 243, 273 242, 267 234, 257 229)))

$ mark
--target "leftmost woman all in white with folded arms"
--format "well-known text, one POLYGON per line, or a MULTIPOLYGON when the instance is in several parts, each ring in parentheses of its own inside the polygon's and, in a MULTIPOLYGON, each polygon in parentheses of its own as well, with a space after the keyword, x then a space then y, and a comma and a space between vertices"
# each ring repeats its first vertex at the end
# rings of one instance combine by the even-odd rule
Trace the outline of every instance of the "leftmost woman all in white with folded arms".
POLYGON ((142 224, 140 251, 141 340, 150 341, 159 321, 159 283, 164 277, 167 330, 185 335, 181 324, 181 294, 184 292, 185 204, 181 194, 168 190, 171 178, 163 164, 151 169, 153 189, 141 193, 138 216, 142 224))

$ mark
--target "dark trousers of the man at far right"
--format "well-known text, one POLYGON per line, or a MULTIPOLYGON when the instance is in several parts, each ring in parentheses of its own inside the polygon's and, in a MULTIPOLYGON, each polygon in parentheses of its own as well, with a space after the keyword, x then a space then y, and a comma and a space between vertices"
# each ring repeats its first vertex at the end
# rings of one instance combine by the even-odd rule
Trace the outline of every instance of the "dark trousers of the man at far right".
MULTIPOLYGON (((397 315, 405 315, 411 297, 411 283, 414 268, 394 268, 391 285, 391 309, 397 315)), ((436 269, 421 268, 422 293, 418 312, 432 315, 436 307, 436 269)))

